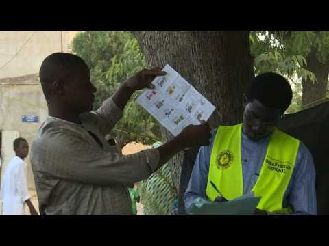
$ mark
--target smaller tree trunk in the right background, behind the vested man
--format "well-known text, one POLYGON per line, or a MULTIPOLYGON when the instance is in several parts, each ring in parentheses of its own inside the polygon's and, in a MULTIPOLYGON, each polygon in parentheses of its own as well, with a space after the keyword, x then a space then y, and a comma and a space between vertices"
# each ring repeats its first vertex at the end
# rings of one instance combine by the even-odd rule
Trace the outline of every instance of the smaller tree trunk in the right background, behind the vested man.
POLYGON ((310 79, 302 79, 303 96, 302 109, 313 107, 326 98, 326 91, 328 85, 329 63, 321 63, 316 56, 316 50, 313 49, 306 57, 307 70, 315 74, 317 81, 314 83, 310 79))

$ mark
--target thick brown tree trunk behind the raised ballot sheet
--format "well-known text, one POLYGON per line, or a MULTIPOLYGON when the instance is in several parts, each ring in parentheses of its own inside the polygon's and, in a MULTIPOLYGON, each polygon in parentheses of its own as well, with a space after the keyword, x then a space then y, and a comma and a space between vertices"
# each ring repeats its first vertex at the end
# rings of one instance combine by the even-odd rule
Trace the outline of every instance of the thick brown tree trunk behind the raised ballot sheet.
MULTIPOLYGON (((249 31, 133 31, 149 67, 166 64, 190 82, 213 105, 209 122, 242 121, 243 92, 254 77, 249 51, 249 31)), ((173 136, 162 128, 166 141, 173 136)), ((170 161, 178 190, 182 153, 170 161)))

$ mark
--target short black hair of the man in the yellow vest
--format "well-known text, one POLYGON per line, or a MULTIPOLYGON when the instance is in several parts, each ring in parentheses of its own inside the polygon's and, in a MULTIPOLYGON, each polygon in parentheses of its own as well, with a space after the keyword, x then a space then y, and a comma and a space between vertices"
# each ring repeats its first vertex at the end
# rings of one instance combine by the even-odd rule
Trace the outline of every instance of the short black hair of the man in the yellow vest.
POLYGON ((263 105, 272 109, 279 109, 281 113, 284 113, 291 104, 293 90, 282 75, 265 72, 254 77, 247 88, 246 97, 247 102, 256 99, 263 105))

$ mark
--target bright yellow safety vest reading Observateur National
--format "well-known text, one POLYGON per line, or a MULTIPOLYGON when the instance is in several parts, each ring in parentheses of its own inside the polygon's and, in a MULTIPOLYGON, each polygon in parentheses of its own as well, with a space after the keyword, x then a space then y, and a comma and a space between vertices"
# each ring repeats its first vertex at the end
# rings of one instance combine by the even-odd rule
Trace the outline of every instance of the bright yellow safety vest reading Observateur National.
MULTIPOLYGON (((219 196, 210 181, 227 200, 243 195, 241 164, 241 126, 220 126, 217 130, 212 152, 206 195, 210 201, 219 196)), ((262 197, 257 208, 272 213, 291 213, 283 208, 284 193, 288 187, 300 141, 276 129, 260 170, 259 178, 252 189, 255 196, 262 197)))

